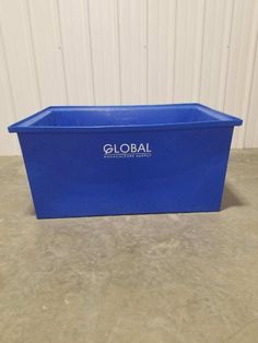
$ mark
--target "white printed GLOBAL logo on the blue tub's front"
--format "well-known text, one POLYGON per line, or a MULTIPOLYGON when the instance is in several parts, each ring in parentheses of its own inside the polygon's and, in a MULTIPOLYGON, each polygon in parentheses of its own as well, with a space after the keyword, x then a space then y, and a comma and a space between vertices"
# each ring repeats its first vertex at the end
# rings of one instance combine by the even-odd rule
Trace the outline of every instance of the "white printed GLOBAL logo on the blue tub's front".
POLYGON ((122 143, 103 145, 104 157, 151 157, 152 151, 149 143, 122 143))

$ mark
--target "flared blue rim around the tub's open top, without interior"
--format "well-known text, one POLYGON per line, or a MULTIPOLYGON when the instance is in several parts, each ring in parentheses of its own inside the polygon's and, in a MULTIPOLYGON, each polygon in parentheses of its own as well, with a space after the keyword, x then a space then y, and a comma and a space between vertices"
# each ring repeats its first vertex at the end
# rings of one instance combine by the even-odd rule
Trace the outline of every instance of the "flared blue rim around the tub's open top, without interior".
POLYGON ((243 120, 225 115, 221 111, 214 110, 208 106, 199 103, 187 104, 161 104, 161 105, 119 105, 119 106, 50 106, 33 116, 20 120, 8 127, 9 132, 98 132, 98 131, 143 131, 143 130, 174 130, 174 129, 197 129, 197 128, 215 128, 215 127, 234 127, 241 126, 243 120), (173 122, 173 123, 143 123, 143 125, 121 125, 121 126, 34 126, 34 123, 44 117, 48 116, 55 110, 69 110, 69 109, 143 109, 143 108, 195 108, 209 115, 216 120, 207 121, 189 121, 189 122, 173 122))

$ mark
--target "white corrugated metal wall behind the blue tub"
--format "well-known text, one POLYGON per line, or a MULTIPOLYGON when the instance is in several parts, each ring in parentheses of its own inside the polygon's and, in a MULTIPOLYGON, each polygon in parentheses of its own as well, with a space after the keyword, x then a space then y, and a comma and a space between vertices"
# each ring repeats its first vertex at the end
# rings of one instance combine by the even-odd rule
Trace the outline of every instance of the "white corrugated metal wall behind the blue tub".
POLYGON ((258 0, 0 0, 7 126, 49 105, 201 102, 258 146, 258 0))

